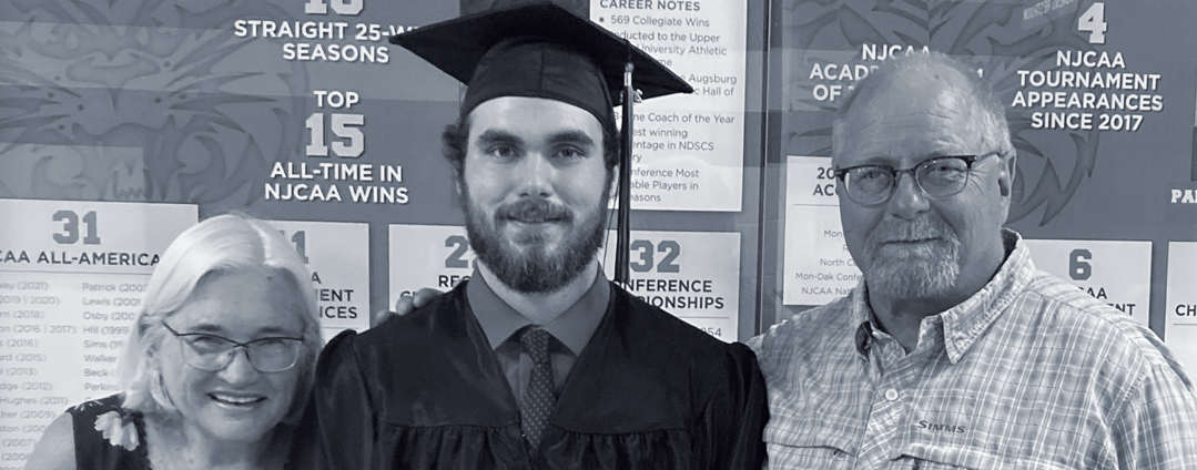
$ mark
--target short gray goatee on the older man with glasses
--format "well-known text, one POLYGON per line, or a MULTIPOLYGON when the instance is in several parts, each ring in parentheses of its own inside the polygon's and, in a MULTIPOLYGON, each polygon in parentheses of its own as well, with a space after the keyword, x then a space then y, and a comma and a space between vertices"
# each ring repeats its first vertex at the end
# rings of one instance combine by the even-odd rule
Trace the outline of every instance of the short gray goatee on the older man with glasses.
POLYGON ((864 273, 869 293, 891 299, 918 299, 941 297, 955 287, 960 277, 960 239, 950 227, 938 226, 916 222, 903 232, 913 238, 937 233, 943 237, 941 243, 904 250, 888 249, 885 255, 876 252, 880 240, 870 236, 869 268, 864 273))

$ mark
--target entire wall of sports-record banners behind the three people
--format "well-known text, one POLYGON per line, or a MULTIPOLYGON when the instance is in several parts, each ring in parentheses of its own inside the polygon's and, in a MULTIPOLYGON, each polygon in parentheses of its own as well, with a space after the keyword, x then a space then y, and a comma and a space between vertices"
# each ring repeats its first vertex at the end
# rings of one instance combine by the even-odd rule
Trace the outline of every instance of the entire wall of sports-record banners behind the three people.
MULTIPOLYGON (((135 301, 122 286, 196 220, 274 221, 326 336, 469 276, 439 139, 464 88, 387 37, 510 2, 0 0, 0 470, 113 391, 113 350, 86 344, 123 341, 134 310, 103 301, 135 301)), ((938 50, 1009 106, 1008 222, 1037 265, 1197 364, 1197 2, 559 4, 697 90, 636 109, 637 295, 742 341, 851 289, 833 111, 882 61, 938 50)))

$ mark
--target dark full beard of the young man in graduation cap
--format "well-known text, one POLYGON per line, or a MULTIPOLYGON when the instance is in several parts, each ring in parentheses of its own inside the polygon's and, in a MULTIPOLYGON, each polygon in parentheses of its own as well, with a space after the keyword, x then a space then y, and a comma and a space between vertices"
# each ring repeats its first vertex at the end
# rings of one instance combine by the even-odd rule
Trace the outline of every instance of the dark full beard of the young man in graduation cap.
POLYGON ((524 250, 516 250, 515 242, 504 238, 499 226, 506 221, 498 216, 487 220, 481 208, 469 199, 468 190, 463 195, 466 202, 466 233, 469 245, 478 258, 494 273, 500 282, 516 292, 525 294, 547 294, 560 291, 577 279, 590 264, 603 242, 603 218, 607 199, 601 199, 603 206, 589 214, 571 218, 571 230, 561 240, 561 246, 549 252, 540 236, 521 239, 524 250))

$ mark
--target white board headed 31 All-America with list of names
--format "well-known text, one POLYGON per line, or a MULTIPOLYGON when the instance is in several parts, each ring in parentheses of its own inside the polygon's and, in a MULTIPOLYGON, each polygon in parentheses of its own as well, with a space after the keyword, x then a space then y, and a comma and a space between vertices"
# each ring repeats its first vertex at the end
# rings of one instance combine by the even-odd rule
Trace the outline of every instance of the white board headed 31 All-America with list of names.
POLYGON ((0 200, 0 466, 67 405, 113 393, 163 251, 195 206, 0 200))

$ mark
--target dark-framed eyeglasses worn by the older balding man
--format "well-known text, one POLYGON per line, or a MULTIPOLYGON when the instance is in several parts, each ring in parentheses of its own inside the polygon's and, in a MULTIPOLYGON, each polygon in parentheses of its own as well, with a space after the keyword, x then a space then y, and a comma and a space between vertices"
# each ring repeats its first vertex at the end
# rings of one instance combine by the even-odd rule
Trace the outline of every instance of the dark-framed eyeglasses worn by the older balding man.
POLYGON ((911 173, 915 185, 928 197, 948 197, 968 184, 972 165, 999 152, 980 155, 947 155, 923 161, 912 169, 895 170, 889 165, 857 165, 836 169, 836 178, 844 183, 847 199, 861 206, 875 206, 889 200, 898 188, 898 175, 911 173))

